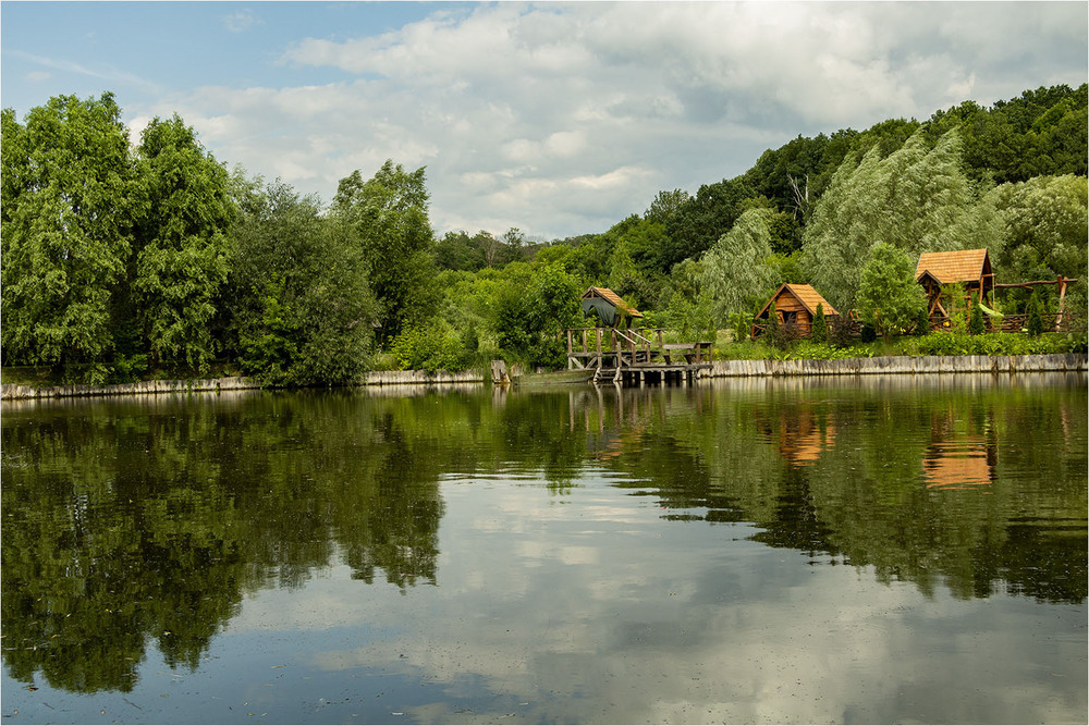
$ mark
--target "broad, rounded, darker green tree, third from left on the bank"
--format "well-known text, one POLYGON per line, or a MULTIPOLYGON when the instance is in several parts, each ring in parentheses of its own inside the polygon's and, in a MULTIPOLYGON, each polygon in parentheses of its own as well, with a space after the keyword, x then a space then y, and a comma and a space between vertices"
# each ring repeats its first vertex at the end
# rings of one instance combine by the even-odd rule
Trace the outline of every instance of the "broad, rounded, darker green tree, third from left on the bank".
POLYGON ((235 354, 267 383, 355 381, 378 318, 355 231, 280 181, 235 184, 241 213, 228 291, 235 354))

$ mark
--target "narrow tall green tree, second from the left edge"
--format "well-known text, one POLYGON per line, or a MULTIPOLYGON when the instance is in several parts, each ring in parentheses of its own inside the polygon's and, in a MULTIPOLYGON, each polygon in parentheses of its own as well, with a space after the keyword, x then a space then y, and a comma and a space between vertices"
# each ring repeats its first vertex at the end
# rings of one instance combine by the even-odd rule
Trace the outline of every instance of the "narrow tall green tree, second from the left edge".
POLYGON ((137 158, 144 204, 126 291, 132 311, 156 358, 203 365, 215 353, 209 323, 235 217, 228 174, 178 114, 147 125, 137 158))

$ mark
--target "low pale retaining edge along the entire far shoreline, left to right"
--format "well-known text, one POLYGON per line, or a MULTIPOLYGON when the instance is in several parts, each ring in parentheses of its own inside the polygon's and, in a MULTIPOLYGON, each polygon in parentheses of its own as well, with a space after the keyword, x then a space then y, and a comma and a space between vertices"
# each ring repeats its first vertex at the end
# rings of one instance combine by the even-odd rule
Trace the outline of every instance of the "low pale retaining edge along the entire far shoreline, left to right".
MULTIPOLYGON (((708 378, 784 378, 813 376, 914 376, 933 373, 1035 373, 1035 372, 1087 372, 1089 355, 1084 353, 1061 353, 1027 356, 882 356, 874 358, 835 358, 797 360, 715 360, 711 367, 699 371, 699 379, 708 378)), ((573 380, 572 372, 524 373, 514 377, 515 385, 572 385, 588 382, 592 371, 586 371, 587 381, 573 380), (549 381, 549 378, 555 379, 549 381)), ((488 371, 470 369, 465 371, 421 370, 372 371, 354 386, 335 387, 389 387, 446 385, 453 383, 487 383, 488 371)), ((91 396, 159 395, 166 393, 203 393, 223 391, 249 391, 261 389, 253 379, 230 377, 218 379, 193 379, 172 381, 139 381, 110 385, 53 385, 35 387, 30 385, 0 384, 0 401, 28 401, 35 398, 72 398, 91 396)))

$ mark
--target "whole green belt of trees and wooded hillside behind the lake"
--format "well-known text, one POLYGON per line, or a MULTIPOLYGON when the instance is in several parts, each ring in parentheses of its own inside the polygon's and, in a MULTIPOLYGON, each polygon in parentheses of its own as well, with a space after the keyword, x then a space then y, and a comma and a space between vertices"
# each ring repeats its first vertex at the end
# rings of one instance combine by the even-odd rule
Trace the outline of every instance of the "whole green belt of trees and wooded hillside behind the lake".
MULTIPOLYGON (((714 335, 783 282, 865 319, 895 303, 861 295, 867 274, 977 247, 1000 282, 1078 278, 1067 307, 1086 308, 1085 84, 798 136, 739 176, 551 242, 516 227, 438 237, 425 169, 393 160, 327 205, 228 170, 176 114, 136 144, 108 93, 52 98, 22 122, 5 109, 2 137, 2 362, 89 382, 171 366, 280 385, 493 357, 556 367, 590 284, 649 325, 714 335)), ((1041 295, 1054 307, 1056 291, 1041 295)), ((1037 305, 1024 291, 991 304, 1037 305)))

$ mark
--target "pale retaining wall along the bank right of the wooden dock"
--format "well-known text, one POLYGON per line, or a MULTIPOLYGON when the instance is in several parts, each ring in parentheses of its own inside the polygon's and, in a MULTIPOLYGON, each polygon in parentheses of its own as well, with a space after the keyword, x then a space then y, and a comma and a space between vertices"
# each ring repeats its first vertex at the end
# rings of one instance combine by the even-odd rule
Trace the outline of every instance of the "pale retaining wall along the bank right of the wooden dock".
POLYGON ((1089 370, 1081 353, 1047 356, 884 356, 839 360, 715 360, 700 378, 865 376, 882 373, 1021 373, 1089 370))

